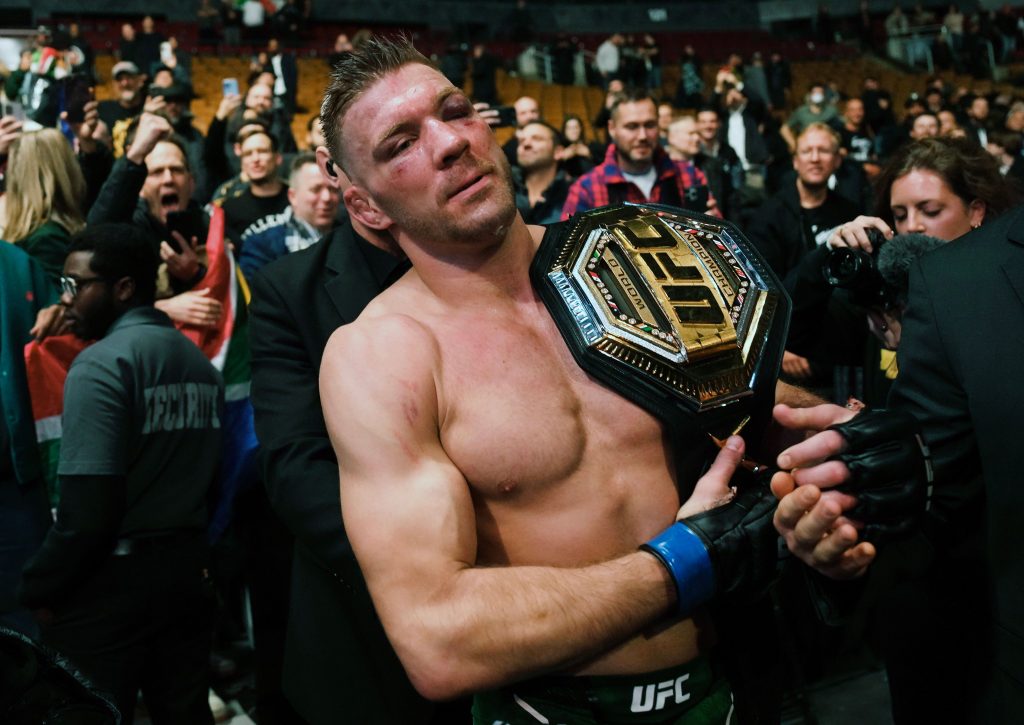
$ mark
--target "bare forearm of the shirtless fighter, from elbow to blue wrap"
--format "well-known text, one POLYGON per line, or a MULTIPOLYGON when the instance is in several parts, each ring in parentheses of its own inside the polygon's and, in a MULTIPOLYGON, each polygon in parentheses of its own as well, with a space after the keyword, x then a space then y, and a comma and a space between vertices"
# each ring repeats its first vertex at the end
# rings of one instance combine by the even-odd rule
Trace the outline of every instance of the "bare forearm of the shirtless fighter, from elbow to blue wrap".
POLYGON ((412 609, 378 607, 411 680, 435 699, 585 662, 668 617, 675 599, 667 569, 637 552, 571 569, 467 567, 412 609))

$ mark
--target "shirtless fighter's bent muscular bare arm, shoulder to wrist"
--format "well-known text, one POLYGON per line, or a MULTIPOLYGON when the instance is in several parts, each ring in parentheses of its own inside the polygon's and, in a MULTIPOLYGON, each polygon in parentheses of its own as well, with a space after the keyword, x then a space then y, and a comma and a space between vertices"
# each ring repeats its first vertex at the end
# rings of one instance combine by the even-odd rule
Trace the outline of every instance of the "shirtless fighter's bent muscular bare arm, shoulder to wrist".
MULTIPOLYGON (((561 669, 668 615, 674 585, 647 553, 580 568, 476 566, 469 484, 438 437, 439 365, 414 321, 365 317, 335 333, 321 371, 345 527, 417 689, 446 698, 561 669)), ((741 455, 716 464, 720 487, 741 455)))

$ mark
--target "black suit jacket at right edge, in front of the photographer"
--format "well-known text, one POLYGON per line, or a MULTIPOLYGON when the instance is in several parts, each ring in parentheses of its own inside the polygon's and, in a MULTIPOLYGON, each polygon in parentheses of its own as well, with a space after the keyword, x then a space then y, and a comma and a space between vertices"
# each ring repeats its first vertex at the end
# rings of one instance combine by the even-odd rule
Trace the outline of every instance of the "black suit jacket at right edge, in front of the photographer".
MULTIPOLYGON (((909 299, 890 404, 924 424, 940 516, 955 520, 955 511, 966 509, 971 497, 983 497, 989 617, 950 624, 975 627, 989 640, 992 672, 981 720, 1019 722, 1024 713, 1024 207, 923 257, 910 275, 909 299), (973 492, 970 481, 979 469, 984 491, 973 492)), ((961 528, 939 527, 936 536, 956 538, 961 528)), ((956 667, 969 672, 971 665, 956 667)))

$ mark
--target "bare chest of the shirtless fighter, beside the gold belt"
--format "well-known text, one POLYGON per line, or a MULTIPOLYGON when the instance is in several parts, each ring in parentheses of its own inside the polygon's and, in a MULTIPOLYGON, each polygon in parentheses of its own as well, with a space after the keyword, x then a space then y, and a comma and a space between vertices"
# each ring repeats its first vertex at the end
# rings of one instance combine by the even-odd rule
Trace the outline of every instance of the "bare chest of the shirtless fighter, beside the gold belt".
POLYGON ((622 451, 664 453, 650 415, 589 378, 550 319, 439 339, 441 442, 484 495, 546 487, 622 451))

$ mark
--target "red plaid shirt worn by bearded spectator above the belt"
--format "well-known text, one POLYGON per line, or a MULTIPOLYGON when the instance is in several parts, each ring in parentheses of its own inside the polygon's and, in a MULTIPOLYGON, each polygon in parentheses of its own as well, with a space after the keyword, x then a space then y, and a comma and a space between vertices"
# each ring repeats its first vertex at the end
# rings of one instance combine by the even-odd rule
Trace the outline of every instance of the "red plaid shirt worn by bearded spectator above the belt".
MULTIPOLYGON (((654 150, 654 168, 657 179, 650 189, 650 199, 646 199, 635 183, 629 181, 622 169, 615 163, 615 144, 608 146, 604 155, 604 163, 578 178, 569 188, 569 196, 562 207, 562 221, 577 212, 597 209, 609 204, 633 202, 643 204, 669 204, 677 207, 689 207, 686 202, 686 190, 708 186, 708 177, 703 175, 692 161, 673 161, 660 146, 654 150)), ((711 189, 708 190, 708 201, 714 201, 711 189)), ((716 207, 712 211, 698 209, 705 214, 721 217, 722 213, 716 207)))

